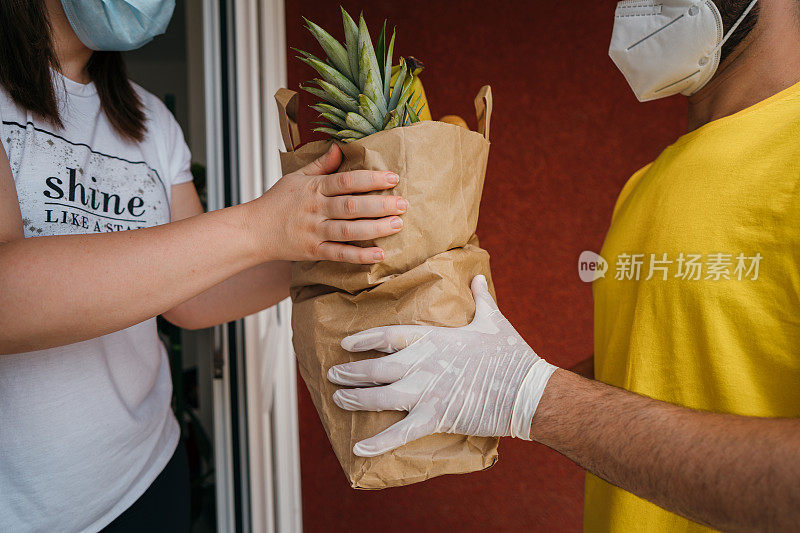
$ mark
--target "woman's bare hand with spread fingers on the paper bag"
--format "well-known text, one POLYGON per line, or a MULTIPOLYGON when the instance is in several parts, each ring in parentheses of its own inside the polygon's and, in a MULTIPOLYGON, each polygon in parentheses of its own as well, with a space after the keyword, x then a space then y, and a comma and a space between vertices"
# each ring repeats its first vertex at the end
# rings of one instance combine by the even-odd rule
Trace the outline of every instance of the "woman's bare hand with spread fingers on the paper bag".
POLYGON ((263 260, 343 261, 371 264, 384 259, 380 248, 361 248, 350 241, 385 237, 400 231, 408 203, 398 196, 360 195, 391 189, 399 177, 391 172, 335 172, 342 152, 328 153, 281 178, 250 202, 247 227, 260 245, 263 260))

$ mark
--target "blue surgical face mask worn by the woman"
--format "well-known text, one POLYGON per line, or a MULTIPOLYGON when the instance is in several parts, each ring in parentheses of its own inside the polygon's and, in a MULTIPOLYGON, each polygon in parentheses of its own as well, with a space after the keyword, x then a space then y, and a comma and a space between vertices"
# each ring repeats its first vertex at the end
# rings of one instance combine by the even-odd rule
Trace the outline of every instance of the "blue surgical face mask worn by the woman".
POLYGON ((61 0, 72 29, 92 50, 144 46, 167 29, 175 0, 61 0))

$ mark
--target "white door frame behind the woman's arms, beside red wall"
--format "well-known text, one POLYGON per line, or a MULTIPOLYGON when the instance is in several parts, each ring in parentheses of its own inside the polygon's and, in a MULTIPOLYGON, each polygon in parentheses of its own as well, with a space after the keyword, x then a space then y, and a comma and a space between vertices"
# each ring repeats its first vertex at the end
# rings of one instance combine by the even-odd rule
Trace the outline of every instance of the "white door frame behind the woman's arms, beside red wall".
MULTIPOLYGON (((260 196, 281 176, 281 134, 273 95, 286 85, 283 0, 204 0, 206 51, 206 124, 209 203, 222 207, 221 180, 231 172, 246 202, 260 196), (222 7, 221 4, 225 4, 222 7), (220 9, 225 9, 220 13, 220 9), (221 16, 222 15, 222 16, 221 16), (221 22, 221 19, 225 22, 221 22), (221 28, 225 24, 226 28, 221 28), (220 35, 227 29, 227 43, 220 35), (223 66, 227 53, 228 109, 223 109, 223 66), (230 113, 229 168, 223 163, 221 117, 230 113), (213 116, 212 116, 213 115, 213 116)), ((302 531, 299 429, 291 303, 249 316, 235 333, 219 328, 219 356, 225 364, 215 380, 217 529, 220 532, 293 533, 302 531), (235 342, 228 342, 231 336, 235 342), (230 354, 231 345, 237 354, 230 354), (236 358, 236 375, 229 373, 236 358), (231 381, 232 380, 232 381, 231 381), (232 397, 231 383, 236 397, 232 397), (237 405, 239 413, 232 413, 237 405), (244 412, 242 412, 244 411, 244 412), (234 416, 238 420, 234 420, 234 416), (237 424, 238 422, 238 424, 237 424), (238 432, 236 426, 238 427, 238 432), (238 433, 240 446, 232 442, 238 433), (234 455, 240 454, 238 462, 234 455), (234 463, 240 468, 238 487, 234 463), (240 491, 240 501, 233 494, 240 491), (279 490, 278 490, 279 489, 279 490), (241 513, 237 520, 236 513, 241 513)))

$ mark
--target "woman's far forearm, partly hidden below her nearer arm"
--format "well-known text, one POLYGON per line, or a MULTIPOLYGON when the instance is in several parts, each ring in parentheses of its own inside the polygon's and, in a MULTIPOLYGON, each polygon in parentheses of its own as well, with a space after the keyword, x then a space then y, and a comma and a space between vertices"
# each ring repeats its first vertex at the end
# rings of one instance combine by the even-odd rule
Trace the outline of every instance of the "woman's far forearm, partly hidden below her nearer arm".
POLYGON ((164 314, 186 329, 230 322, 271 307, 289 296, 291 262, 271 261, 249 268, 164 314))

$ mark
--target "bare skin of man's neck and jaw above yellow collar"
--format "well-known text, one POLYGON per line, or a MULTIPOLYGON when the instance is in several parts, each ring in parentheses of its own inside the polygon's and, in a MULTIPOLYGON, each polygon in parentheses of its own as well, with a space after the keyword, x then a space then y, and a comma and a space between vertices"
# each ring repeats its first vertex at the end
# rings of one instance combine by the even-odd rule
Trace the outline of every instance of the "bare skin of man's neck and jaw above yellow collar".
POLYGON ((764 2, 752 33, 689 98, 688 131, 750 107, 800 81, 794 5, 764 2))

